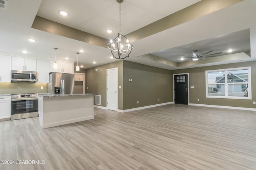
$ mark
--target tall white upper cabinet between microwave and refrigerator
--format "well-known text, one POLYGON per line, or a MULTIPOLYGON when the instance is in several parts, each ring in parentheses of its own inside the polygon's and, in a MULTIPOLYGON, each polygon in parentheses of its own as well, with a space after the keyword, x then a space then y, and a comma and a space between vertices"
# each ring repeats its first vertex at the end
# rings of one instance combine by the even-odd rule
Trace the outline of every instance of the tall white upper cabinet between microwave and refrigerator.
POLYGON ((37 60, 36 72, 38 83, 49 83, 49 61, 37 60))

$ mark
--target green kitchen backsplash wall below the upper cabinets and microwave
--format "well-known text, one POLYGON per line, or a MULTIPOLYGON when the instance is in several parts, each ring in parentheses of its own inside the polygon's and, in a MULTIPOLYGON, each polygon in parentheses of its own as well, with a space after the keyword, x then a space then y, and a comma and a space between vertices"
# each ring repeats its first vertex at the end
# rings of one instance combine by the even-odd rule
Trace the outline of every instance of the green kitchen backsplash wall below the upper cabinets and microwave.
POLYGON ((0 82, 0 94, 47 93, 46 83, 0 82), (41 89, 43 86, 43 90, 41 89))

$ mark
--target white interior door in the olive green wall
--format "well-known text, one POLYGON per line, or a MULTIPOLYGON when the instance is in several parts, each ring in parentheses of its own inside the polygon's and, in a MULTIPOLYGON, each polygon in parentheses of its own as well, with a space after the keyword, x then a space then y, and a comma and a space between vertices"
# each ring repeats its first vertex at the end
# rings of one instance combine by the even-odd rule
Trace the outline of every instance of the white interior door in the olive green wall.
POLYGON ((117 68, 107 69, 107 108, 118 109, 118 70, 117 68))

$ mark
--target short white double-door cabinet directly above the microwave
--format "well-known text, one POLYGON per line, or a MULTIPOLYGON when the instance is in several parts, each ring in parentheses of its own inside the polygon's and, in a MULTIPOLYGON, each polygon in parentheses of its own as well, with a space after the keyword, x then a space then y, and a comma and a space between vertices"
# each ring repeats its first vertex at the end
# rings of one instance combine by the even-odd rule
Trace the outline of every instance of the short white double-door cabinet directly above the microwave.
POLYGON ((12 70, 36 71, 36 59, 12 57, 12 70))

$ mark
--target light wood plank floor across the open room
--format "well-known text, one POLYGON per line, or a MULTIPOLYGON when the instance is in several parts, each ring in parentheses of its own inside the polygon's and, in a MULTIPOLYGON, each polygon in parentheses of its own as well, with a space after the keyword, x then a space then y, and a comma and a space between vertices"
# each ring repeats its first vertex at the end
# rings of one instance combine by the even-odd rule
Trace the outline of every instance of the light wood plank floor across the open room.
POLYGON ((0 122, 0 170, 256 170, 256 112, 166 105, 42 129, 38 117, 0 122))

